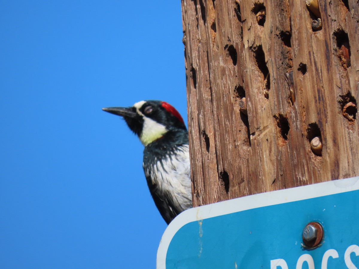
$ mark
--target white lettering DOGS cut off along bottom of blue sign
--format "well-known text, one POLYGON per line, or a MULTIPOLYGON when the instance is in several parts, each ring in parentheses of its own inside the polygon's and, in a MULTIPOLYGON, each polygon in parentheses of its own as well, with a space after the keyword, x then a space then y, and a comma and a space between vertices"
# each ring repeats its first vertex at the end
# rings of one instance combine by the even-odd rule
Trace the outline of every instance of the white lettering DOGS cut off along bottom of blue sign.
MULTIPOLYGON (((344 254, 344 261, 345 265, 348 269, 358 269, 350 259, 350 254, 355 253, 356 256, 359 256, 359 246, 351 245, 345 250, 344 254)), ((328 259, 332 257, 333 259, 339 258, 339 254, 335 249, 328 249, 322 258, 322 266, 321 269, 327 269, 328 266, 328 259)), ((299 257, 297 261, 296 269, 302 269, 303 263, 306 262, 308 264, 309 269, 314 268, 314 260, 310 254, 303 254, 299 257)), ((284 259, 275 259, 270 261, 270 268, 271 269, 288 269, 288 265, 284 259)))

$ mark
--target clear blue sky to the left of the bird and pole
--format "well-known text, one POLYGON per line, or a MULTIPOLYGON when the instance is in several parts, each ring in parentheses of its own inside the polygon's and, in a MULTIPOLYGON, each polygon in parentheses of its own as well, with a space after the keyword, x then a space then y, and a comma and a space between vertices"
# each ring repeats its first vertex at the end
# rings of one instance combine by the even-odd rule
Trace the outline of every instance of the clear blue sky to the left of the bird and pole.
POLYGON ((186 114, 181 1, 1 1, 0 268, 155 268, 143 146, 103 107, 186 114))

